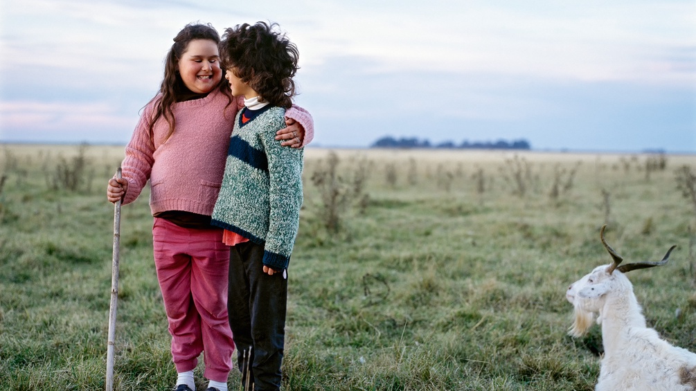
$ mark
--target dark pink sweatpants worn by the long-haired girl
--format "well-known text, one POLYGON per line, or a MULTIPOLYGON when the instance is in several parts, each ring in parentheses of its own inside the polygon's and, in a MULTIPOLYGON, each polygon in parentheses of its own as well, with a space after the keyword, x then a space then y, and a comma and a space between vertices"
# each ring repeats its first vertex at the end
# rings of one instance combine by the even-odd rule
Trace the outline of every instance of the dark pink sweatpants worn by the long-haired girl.
POLYGON ((164 218, 152 226, 157 279, 172 335, 177 372, 198 365, 209 380, 227 381, 235 350, 227 314, 230 248, 223 230, 182 228, 164 218))

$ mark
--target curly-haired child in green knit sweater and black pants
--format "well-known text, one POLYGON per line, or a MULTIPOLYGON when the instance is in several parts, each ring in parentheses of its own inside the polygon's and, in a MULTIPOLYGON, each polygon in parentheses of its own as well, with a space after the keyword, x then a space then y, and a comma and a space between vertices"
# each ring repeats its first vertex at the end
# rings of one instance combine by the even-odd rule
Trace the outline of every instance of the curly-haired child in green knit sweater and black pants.
POLYGON ((220 44, 235 118, 212 224, 230 248, 228 314, 245 390, 279 390, 285 345, 287 265, 302 205, 301 148, 280 147, 292 106, 298 51, 276 24, 226 29, 220 44))

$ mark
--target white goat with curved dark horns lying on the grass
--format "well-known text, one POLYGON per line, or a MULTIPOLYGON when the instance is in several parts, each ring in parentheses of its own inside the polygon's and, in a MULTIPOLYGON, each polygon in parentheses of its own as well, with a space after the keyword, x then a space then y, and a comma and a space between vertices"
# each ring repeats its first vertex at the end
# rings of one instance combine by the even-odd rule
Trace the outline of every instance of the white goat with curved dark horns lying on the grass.
POLYGON ((602 244, 614 259, 597 266, 592 273, 573 282, 566 297, 575 308, 575 322, 569 332, 574 337, 587 333, 594 317, 601 324, 604 357, 599 369, 596 391, 695 391, 696 354, 661 340, 648 328, 633 285, 624 273, 635 269, 662 266, 661 262, 641 262, 619 266, 623 258, 604 240, 602 244))

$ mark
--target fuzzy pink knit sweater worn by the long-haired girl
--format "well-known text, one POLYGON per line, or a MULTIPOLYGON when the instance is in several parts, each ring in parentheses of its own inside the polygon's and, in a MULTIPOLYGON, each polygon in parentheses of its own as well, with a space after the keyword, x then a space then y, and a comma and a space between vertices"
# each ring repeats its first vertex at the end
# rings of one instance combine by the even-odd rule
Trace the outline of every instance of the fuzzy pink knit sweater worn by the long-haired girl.
MULTIPOLYGON (((228 98, 214 90, 205 98, 175 103, 174 133, 162 143, 169 124, 158 120, 152 145, 148 119, 152 118, 155 99, 145 106, 125 149, 121 167, 128 190, 123 204, 136 200, 150 179, 152 214, 177 210, 210 216, 220 191, 235 115, 244 100, 239 97, 225 109, 228 98)), ((312 116, 296 106, 287 110, 286 116, 305 129, 303 145, 310 143, 314 137, 312 116)))

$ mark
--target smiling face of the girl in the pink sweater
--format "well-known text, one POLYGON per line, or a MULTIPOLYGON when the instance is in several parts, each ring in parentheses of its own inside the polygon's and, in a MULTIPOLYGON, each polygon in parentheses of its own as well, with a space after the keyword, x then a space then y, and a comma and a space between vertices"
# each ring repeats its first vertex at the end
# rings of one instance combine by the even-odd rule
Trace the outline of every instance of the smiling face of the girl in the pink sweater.
POLYGON ((193 93, 212 91, 222 80, 218 47, 213 40, 192 40, 179 62, 179 74, 193 93))

